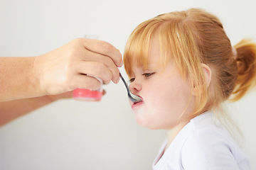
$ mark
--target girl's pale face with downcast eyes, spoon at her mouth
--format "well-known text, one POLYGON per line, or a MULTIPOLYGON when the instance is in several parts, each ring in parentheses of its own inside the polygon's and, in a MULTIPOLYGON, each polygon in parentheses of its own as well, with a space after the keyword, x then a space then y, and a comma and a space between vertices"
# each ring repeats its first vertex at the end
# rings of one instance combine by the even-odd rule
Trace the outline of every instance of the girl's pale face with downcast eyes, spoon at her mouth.
POLYGON ((169 130, 188 121, 185 118, 193 111, 193 96, 191 87, 181 77, 174 62, 169 62, 165 69, 156 67, 159 63, 158 56, 159 50, 153 45, 149 69, 145 70, 133 63, 129 89, 132 94, 140 96, 142 102, 130 101, 130 104, 139 125, 150 129, 169 130), (188 102, 190 97, 191 101, 188 102))

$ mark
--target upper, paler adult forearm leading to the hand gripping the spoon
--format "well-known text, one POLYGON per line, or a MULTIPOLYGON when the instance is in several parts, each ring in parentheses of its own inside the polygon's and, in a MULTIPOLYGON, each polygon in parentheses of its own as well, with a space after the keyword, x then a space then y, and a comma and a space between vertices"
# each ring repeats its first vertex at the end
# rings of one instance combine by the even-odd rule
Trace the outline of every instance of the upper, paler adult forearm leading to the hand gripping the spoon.
POLYGON ((43 96, 33 72, 35 57, 0 57, 0 102, 43 96))

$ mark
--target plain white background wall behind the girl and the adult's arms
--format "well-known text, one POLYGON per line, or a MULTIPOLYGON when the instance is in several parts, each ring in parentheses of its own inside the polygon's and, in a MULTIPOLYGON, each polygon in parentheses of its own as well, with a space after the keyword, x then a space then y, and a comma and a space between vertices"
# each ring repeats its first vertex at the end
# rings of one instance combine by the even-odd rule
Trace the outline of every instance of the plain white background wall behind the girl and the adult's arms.
MULTIPOLYGON (((0 0, 0 56, 41 55, 85 34, 98 35, 123 52, 142 21, 191 7, 218 16, 233 45, 242 38, 256 40, 255 0, 0 0)), ((0 169, 151 169, 164 131, 137 125, 122 82, 104 89, 101 102, 58 101, 0 128, 0 169)), ((252 169, 255 103, 254 91, 231 106, 252 169)))

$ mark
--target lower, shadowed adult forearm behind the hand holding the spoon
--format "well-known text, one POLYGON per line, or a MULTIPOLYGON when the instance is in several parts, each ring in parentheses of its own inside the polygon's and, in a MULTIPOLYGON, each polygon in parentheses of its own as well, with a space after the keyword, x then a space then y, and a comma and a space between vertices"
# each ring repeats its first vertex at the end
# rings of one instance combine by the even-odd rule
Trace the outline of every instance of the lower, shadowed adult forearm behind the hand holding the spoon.
POLYGON ((0 102, 0 126, 51 102, 48 96, 0 102))

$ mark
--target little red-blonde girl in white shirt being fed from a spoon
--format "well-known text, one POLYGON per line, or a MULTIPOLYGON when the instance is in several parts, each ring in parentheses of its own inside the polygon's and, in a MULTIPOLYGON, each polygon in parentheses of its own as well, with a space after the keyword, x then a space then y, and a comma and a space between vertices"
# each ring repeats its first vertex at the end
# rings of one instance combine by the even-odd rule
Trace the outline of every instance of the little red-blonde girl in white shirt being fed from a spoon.
POLYGON ((166 130, 153 169, 250 169, 220 106, 255 87, 255 44, 231 46, 218 18, 191 8, 137 26, 124 66, 130 90, 142 98, 130 102, 137 123, 166 130))

